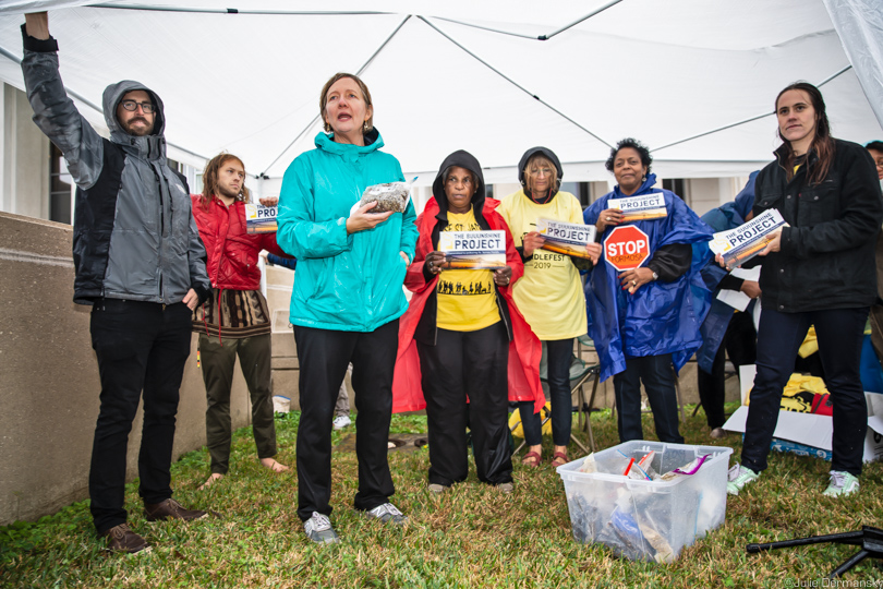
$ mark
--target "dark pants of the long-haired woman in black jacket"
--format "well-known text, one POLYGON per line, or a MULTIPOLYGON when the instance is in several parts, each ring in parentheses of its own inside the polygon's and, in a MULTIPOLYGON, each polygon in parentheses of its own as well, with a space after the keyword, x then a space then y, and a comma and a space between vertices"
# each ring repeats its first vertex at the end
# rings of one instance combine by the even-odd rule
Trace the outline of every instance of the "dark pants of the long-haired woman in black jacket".
POLYGON ((861 474, 868 432, 868 407, 859 376, 861 341, 868 308, 779 313, 764 308, 758 329, 758 373, 748 405, 742 465, 766 469, 766 455, 778 421, 782 390, 810 324, 815 325, 819 356, 825 370, 834 416, 832 470, 861 474))

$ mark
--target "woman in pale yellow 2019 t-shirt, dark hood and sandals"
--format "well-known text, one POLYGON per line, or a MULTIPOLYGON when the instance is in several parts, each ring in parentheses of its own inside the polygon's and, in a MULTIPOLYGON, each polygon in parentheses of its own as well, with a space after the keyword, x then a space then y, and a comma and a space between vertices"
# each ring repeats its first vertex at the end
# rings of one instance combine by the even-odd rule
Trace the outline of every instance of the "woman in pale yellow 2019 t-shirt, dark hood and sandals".
MULTIPOLYGON (((579 271, 570 256, 542 250, 543 238, 536 232, 540 218, 583 224, 582 208, 576 196, 559 192, 561 164, 546 147, 528 149, 518 164, 522 190, 503 200, 499 214, 512 231, 516 248, 524 261, 524 277, 515 286, 518 309, 546 344, 548 388, 552 396, 553 466, 568 462, 572 422, 570 402, 570 361, 573 338, 586 332, 585 296, 579 271)), ((596 262, 601 245, 586 247, 596 262)), ((519 404, 528 454, 523 465, 536 467, 542 460, 540 414, 529 402, 519 404)))

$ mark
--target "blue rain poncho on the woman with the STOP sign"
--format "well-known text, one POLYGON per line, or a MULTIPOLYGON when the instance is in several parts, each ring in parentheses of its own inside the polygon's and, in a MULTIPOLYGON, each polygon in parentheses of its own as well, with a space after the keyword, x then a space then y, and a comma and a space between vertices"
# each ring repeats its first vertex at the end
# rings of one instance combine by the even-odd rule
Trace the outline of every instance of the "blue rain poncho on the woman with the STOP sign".
MULTIPOLYGON (((685 202, 667 190, 651 189, 656 177, 646 180, 633 194, 663 193, 668 216, 661 219, 639 220, 631 225, 640 228, 650 240, 650 257, 664 245, 709 241, 711 228, 690 211, 685 202)), ((614 191, 592 203, 583 213, 586 225, 594 225, 602 211, 608 208, 609 199, 621 199, 614 191)), ((603 239, 610 233, 608 227, 603 239)), ((700 268, 711 252, 693 253, 690 269, 672 283, 654 280, 629 294, 619 286, 616 268, 602 261, 585 281, 585 304, 589 314, 589 335, 595 341, 601 361, 601 380, 626 370, 626 358, 672 353, 675 370, 699 349, 702 338, 699 326, 709 310, 710 292, 702 280, 700 268)), ((644 262, 643 265, 646 265, 644 262)))

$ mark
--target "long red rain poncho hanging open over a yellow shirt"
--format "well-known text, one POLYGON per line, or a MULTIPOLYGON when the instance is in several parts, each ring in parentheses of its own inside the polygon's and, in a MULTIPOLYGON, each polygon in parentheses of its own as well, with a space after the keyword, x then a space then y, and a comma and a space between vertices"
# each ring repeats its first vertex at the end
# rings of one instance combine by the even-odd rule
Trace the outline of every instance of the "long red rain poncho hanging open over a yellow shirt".
MULTIPOLYGON (((543 356, 543 348, 512 300, 511 285, 524 274, 524 264, 515 249, 509 227, 495 211, 498 205, 499 201, 486 199, 483 215, 492 230, 506 231, 506 262, 512 268, 510 286, 497 287, 497 291, 509 306, 509 316, 512 322, 512 340, 509 342, 509 400, 533 400, 534 411, 539 411, 546 402, 543 387, 540 384, 540 358, 543 356)), ((414 262, 408 267, 408 274, 404 276, 404 286, 414 294, 411 297, 408 311, 399 321, 399 351, 396 357, 396 374, 392 381, 394 413, 419 411, 426 407, 421 387, 420 357, 414 340, 414 330, 423 315, 426 300, 435 290, 438 281, 438 275, 433 277, 430 283, 423 276, 426 254, 434 250, 431 236, 438 211, 438 203, 435 199, 430 199, 416 221, 420 230, 416 252, 414 262)))

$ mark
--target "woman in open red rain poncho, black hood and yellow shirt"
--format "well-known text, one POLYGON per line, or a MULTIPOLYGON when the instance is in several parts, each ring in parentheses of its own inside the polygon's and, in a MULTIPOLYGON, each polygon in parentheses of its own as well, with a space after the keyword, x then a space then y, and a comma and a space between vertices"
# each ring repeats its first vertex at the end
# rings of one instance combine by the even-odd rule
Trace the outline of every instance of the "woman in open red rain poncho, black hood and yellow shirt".
POLYGON ((418 218, 420 238, 404 280, 414 296, 399 332, 392 410, 426 408, 430 491, 465 480, 469 423, 479 480, 508 493, 508 398, 544 402, 540 341, 511 297, 524 265, 495 211, 499 202, 485 197, 482 168, 471 154, 459 151, 445 159, 433 195, 418 218), (506 266, 447 268, 438 251, 443 231, 488 230, 505 231, 506 266))

